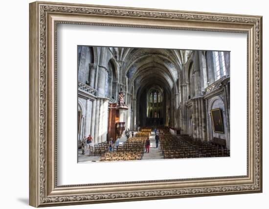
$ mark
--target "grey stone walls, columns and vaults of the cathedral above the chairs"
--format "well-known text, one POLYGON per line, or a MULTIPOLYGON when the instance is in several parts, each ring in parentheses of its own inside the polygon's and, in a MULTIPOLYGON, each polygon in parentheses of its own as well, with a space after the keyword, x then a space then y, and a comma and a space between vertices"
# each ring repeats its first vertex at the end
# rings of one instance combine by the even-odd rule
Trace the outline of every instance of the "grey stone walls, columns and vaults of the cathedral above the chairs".
POLYGON ((78 46, 78 140, 109 140, 109 107, 122 90, 126 129, 171 128, 173 136, 223 140, 229 150, 229 60, 226 51, 78 46), (214 130, 214 109, 223 132, 214 130))

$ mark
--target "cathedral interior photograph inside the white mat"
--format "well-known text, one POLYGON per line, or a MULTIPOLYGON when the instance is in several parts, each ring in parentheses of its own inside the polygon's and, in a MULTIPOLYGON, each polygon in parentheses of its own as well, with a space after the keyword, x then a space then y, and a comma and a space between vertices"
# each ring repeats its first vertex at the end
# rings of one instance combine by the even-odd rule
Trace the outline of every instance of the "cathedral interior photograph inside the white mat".
POLYGON ((230 156, 230 52, 78 46, 78 163, 230 156))

